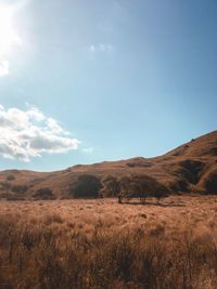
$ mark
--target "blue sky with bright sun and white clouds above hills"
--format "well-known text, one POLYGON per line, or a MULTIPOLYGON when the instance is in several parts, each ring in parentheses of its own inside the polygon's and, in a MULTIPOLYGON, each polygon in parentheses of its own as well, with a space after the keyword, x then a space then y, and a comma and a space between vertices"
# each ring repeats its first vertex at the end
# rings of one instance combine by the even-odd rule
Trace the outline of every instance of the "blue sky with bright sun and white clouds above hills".
POLYGON ((216 0, 0 0, 0 170, 162 155, 217 128, 216 0))

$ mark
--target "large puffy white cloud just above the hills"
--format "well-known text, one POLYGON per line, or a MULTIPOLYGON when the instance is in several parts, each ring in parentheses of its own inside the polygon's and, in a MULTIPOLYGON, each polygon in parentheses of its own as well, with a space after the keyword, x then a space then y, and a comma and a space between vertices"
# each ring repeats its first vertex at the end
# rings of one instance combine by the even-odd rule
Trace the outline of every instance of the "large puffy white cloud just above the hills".
POLYGON ((80 142, 68 134, 55 119, 36 107, 21 110, 0 105, 0 156, 4 158, 30 161, 43 153, 78 149, 80 142))

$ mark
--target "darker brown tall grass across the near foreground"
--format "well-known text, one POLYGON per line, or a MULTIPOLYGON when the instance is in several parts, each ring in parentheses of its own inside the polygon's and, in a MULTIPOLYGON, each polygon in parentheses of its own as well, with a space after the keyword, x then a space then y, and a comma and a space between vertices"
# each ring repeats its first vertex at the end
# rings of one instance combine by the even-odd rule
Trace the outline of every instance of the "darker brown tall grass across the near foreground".
MULTIPOLYGON (((46 218, 46 216, 44 216, 46 218)), ((208 289, 217 288, 214 232, 195 236, 186 227, 157 234, 141 228, 87 235, 44 222, 0 219, 0 288, 7 289, 208 289)), ((61 220, 61 222, 60 222, 61 220)))

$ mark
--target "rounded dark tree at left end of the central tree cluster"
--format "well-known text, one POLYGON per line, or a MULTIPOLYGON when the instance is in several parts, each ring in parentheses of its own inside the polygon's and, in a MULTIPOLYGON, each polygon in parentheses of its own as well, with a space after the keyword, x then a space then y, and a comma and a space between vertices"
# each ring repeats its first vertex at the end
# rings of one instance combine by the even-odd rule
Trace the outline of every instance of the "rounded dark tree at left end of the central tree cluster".
POLYGON ((98 198, 101 189, 101 181, 91 174, 81 174, 69 188, 74 198, 98 198))

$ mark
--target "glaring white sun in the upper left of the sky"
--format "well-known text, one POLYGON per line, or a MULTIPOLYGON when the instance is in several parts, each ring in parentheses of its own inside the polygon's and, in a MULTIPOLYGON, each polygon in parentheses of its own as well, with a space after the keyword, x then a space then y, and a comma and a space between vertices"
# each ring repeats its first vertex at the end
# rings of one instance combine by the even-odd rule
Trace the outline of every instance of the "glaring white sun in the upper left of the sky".
POLYGON ((13 28, 13 10, 0 6, 0 54, 8 54, 13 43, 21 43, 13 28))

